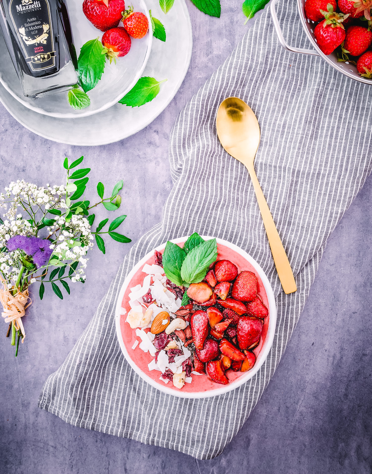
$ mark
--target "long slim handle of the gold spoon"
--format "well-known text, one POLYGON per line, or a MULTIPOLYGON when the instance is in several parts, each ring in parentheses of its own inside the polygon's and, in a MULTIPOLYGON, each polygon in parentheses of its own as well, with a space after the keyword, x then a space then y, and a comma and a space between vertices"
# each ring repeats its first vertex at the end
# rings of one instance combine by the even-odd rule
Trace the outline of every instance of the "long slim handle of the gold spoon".
POLYGON ((254 166, 247 166, 247 169, 252 180, 254 190, 256 192, 258 206, 261 211, 262 220, 264 221, 267 238, 269 240, 271 253, 273 254, 274 263, 276 271, 278 272, 280 283, 282 283, 284 293, 293 293, 297 290, 297 286, 294 281, 291 265, 289 264, 287 254, 285 253, 282 241, 279 237, 278 231, 276 230, 273 216, 271 215, 264 193, 262 192, 260 183, 258 182, 254 166))

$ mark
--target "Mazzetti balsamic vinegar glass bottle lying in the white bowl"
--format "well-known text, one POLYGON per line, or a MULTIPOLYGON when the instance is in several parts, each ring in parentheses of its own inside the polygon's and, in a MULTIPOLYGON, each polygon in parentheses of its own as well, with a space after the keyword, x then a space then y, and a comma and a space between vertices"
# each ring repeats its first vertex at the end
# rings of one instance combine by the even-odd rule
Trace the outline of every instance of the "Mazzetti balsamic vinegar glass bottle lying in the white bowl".
POLYGON ((25 96, 66 91, 79 83, 71 60, 62 0, 0 0, 0 28, 25 96), (60 14, 63 13, 62 21, 60 14))

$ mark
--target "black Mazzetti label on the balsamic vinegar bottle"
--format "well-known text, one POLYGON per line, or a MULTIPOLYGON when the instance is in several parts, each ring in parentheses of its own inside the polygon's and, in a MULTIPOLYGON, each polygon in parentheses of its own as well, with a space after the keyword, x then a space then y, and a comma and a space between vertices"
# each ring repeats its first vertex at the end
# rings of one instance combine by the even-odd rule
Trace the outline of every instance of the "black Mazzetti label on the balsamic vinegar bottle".
POLYGON ((55 65, 52 16, 47 0, 10 0, 12 19, 25 60, 33 71, 55 65))

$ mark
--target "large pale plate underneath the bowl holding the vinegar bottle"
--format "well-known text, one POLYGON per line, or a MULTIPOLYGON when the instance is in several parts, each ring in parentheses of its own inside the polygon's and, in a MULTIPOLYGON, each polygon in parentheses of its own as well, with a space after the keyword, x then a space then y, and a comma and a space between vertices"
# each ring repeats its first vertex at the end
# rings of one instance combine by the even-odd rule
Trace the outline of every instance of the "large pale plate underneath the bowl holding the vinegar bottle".
POLYGON ((161 11, 157 0, 147 0, 146 4, 152 15, 163 23, 167 33, 165 43, 153 38, 151 55, 142 73, 142 76, 155 77, 158 81, 168 79, 161 84, 154 100, 134 108, 115 104, 90 117, 54 118, 26 108, 0 85, 0 100, 5 108, 37 135, 69 145, 106 145, 145 128, 176 95, 187 73, 193 46, 191 22, 184 0, 177 0, 167 15, 161 11))

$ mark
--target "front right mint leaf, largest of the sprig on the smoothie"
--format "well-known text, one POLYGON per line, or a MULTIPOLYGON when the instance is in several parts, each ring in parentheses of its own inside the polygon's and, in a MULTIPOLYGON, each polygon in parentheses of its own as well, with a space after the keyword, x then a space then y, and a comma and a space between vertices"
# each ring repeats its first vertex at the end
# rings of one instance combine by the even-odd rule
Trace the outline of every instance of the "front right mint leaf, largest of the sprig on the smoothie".
MULTIPOLYGON (((199 283, 207 273, 209 265, 216 261, 217 242, 213 238, 194 247, 186 255, 181 268, 181 277, 186 283, 199 283)), ((164 257, 163 257, 164 261, 164 257)), ((164 264, 163 264, 164 266, 164 264)), ((165 270, 165 268, 164 268, 165 270)))

